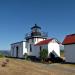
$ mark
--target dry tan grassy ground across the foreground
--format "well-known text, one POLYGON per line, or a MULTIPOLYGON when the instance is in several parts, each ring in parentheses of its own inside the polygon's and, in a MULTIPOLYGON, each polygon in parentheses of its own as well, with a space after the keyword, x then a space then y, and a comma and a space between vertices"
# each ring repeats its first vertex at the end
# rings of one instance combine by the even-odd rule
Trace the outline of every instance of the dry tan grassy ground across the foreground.
POLYGON ((73 64, 42 64, 21 59, 9 59, 5 67, 0 58, 0 75, 75 75, 73 64))

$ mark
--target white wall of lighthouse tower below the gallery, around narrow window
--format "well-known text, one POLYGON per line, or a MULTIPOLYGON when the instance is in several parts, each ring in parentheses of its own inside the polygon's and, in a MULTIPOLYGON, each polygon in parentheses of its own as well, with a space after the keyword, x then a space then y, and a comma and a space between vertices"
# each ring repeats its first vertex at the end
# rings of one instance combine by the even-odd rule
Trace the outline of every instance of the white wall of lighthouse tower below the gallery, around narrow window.
POLYGON ((45 40, 43 38, 34 38, 34 42, 32 42, 32 39, 29 39, 29 43, 27 43, 27 53, 30 56, 39 56, 39 47, 35 47, 34 45, 42 40, 45 40), (32 44, 32 52, 30 52, 30 44, 32 44))

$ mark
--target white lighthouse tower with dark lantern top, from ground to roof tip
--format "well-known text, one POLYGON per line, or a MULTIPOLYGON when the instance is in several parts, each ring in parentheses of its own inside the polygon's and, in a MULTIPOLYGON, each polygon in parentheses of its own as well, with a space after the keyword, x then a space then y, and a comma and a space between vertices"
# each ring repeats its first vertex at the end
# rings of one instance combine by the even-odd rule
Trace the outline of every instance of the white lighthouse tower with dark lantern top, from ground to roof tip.
POLYGON ((36 56, 37 51, 35 49, 35 44, 40 41, 46 40, 47 34, 45 32, 42 32, 41 27, 35 24, 31 28, 31 32, 26 34, 25 39, 26 39, 27 54, 29 56, 36 56))

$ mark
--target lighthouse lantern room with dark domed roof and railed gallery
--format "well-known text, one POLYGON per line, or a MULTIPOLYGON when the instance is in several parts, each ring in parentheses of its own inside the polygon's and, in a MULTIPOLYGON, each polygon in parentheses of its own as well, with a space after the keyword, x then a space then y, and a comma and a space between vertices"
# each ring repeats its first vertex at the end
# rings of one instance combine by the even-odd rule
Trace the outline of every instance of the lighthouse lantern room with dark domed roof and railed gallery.
POLYGON ((46 32, 41 31, 41 27, 39 27, 37 24, 35 24, 33 27, 31 27, 31 32, 26 34, 26 41, 31 44, 36 44, 39 41, 47 39, 48 35, 46 32))

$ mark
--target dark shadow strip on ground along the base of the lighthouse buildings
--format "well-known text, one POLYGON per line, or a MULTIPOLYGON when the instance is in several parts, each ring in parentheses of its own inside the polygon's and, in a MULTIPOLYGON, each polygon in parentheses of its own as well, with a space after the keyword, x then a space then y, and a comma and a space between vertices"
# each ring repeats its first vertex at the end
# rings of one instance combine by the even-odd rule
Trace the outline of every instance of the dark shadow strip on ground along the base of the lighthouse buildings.
POLYGON ((75 65, 75 63, 66 62, 66 61, 65 61, 63 58, 61 58, 61 57, 47 58, 45 61, 41 61, 40 58, 36 58, 35 56, 28 56, 27 59, 25 59, 25 58, 17 58, 17 57, 9 57, 9 56, 6 56, 6 58, 21 59, 21 60, 27 60, 27 61, 32 61, 32 62, 35 62, 35 63, 42 63, 42 64, 54 64, 54 63, 59 63, 59 64, 73 64, 73 65, 75 65))

